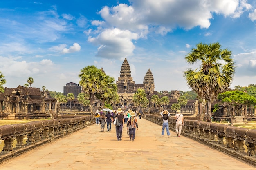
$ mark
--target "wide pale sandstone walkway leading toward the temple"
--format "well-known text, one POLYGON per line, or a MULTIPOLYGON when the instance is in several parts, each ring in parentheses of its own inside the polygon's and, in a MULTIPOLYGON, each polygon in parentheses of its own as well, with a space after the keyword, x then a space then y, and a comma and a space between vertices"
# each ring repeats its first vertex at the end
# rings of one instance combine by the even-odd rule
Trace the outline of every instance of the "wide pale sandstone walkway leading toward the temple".
POLYGON ((101 132, 91 125, 0 164, 1 170, 255 170, 247 163, 204 144, 138 119, 135 141, 126 127, 117 141, 115 126, 101 132))

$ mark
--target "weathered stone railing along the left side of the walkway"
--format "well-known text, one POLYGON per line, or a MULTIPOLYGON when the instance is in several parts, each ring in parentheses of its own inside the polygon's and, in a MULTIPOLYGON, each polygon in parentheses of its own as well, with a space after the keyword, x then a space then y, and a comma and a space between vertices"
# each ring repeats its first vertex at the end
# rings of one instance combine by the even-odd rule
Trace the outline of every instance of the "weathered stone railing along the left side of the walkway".
POLYGON ((94 122, 94 116, 88 115, 0 126, 0 139, 4 140, 0 163, 94 122))

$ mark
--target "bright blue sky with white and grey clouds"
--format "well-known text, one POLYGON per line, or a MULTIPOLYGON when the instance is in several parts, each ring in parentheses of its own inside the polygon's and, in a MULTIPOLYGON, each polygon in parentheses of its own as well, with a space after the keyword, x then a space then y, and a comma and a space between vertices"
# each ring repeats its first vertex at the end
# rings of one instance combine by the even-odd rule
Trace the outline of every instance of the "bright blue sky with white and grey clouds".
POLYGON ((124 59, 135 84, 148 69, 155 91, 191 91, 185 56, 198 43, 232 51, 230 88, 256 84, 255 0, 1 0, 4 87, 63 93, 86 66, 118 80, 124 59))

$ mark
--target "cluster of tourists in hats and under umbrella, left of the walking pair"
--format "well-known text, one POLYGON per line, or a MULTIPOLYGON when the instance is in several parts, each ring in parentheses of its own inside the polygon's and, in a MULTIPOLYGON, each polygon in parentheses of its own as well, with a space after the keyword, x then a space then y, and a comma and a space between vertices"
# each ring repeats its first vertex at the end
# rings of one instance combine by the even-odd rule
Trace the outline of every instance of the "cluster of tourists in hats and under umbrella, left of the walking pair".
POLYGON ((129 130, 130 141, 135 139, 135 130, 138 130, 138 121, 134 111, 128 109, 123 111, 121 108, 117 110, 109 111, 105 114, 103 110, 97 110, 95 113, 96 125, 101 124, 101 132, 104 132, 105 124, 107 123, 108 132, 111 131, 111 124, 113 123, 116 127, 117 141, 122 140, 122 132, 124 124, 126 125, 127 130, 129 130))

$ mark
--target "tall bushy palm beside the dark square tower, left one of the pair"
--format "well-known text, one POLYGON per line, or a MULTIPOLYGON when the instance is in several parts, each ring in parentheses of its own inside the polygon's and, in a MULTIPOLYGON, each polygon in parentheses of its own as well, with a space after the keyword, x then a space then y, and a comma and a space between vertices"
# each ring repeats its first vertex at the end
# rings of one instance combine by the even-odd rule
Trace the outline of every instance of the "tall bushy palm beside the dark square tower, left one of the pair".
POLYGON ((83 91, 90 96, 90 105, 92 106, 92 110, 90 110, 91 113, 95 111, 94 95, 101 93, 104 76, 105 73, 96 66, 87 66, 80 71, 79 77, 81 80, 79 81, 79 85, 83 88, 83 91))

